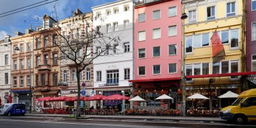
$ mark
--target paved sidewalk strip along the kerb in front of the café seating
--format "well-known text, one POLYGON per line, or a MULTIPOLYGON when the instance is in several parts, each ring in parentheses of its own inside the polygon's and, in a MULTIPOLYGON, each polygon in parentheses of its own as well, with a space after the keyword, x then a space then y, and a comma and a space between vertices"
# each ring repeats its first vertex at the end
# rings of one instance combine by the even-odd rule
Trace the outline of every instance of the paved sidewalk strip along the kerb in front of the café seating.
MULTIPOLYGON (((70 115, 26 113, 27 116, 35 117, 69 117, 70 115)), ((167 117, 167 116, 131 116, 131 115, 86 115, 87 118, 101 119, 149 119, 149 120, 173 120, 173 121, 213 121, 225 122, 218 117, 167 117)))

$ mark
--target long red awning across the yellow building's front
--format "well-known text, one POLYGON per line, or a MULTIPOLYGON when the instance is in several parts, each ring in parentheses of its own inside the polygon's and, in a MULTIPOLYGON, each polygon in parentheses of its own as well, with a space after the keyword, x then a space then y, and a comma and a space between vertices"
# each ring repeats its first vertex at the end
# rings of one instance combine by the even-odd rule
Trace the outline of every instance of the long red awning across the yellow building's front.
POLYGON ((222 74, 209 74, 209 75, 187 75, 186 78, 203 78, 203 77, 228 77, 238 75, 255 75, 256 71, 247 71, 240 73, 222 73, 222 74))

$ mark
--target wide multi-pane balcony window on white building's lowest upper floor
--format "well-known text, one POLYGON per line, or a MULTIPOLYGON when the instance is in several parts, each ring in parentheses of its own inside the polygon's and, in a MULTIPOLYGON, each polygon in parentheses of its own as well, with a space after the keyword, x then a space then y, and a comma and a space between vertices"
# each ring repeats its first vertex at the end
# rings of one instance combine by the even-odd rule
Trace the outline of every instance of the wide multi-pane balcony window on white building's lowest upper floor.
POLYGON ((118 70, 106 71, 106 83, 119 84, 119 71, 118 70))

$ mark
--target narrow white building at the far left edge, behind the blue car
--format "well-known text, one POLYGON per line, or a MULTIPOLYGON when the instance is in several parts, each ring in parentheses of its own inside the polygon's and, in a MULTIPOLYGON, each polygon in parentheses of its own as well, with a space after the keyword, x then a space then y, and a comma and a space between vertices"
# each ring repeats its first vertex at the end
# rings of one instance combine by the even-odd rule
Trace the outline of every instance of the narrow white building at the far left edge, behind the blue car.
POLYGON ((0 97, 1 104, 7 103, 9 91, 11 89, 11 41, 10 36, 5 36, 0 41, 0 97))

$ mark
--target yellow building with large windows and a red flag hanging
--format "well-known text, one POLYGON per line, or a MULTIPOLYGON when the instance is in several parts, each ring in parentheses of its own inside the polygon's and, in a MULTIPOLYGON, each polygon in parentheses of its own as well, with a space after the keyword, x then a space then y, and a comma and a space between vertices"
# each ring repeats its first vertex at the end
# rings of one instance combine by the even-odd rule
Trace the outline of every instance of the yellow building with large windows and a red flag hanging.
MULTIPOLYGON (((188 15, 185 20, 186 96, 195 93, 207 96, 210 100, 203 102, 206 108, 219 108, 220 94, 228 90, 239 93, 243 89, 241 76, 230 75, 245 71, 243 5, 243 0, 183 1, 188 15), (215 30, 226 54, 222 61, 216 62, 213 61, 211 42, 215 30)), ((222 104, 226 105, 228 103, 222 104)))

